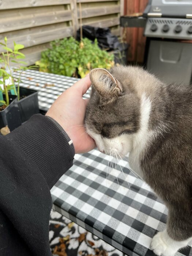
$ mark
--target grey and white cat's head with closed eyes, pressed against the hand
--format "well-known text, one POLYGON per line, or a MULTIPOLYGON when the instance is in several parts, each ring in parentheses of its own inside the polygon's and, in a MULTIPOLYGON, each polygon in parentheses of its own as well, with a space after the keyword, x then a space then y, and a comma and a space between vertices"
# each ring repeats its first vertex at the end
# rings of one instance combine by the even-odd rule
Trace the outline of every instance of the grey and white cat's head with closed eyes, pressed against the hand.
POLYGON ((105 154, 129 153, 133 134, 140 125, 140 97, 133 77, 123 67, 107 71, 96 68, 90 72, 92 92, 87 105, 85 124, 87 133, 105 154))

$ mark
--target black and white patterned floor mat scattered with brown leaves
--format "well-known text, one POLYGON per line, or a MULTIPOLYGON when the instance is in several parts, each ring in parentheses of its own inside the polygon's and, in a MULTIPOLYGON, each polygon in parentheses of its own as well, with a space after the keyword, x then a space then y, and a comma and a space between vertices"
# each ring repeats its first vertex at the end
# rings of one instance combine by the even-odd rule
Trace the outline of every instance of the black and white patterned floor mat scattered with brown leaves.
POLYGON ((50 214, 49 230, 54 256, 126 256, 54 210, 50 214))

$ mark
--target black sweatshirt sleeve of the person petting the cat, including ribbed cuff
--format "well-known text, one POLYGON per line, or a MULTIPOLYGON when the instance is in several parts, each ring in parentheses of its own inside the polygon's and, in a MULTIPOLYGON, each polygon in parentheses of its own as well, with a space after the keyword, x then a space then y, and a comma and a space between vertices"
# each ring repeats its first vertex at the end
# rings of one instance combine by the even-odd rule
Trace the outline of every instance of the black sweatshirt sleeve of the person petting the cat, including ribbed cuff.
POLYGON ((69 140, 40 114, 0 136, 0 256, 51 255, 50 188, 72 166, 69 140))

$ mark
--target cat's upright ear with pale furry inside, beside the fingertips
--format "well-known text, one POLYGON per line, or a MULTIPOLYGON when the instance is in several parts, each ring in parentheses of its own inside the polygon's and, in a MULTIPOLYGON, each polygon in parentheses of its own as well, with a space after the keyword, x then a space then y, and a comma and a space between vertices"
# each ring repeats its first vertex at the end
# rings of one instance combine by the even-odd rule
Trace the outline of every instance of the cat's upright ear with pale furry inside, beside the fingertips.
POLYGON ((118 80, 114 78, 106 69, 92 69, 89 76, 92 85, 102 96, 102 98, 112 99, 122 94, 123 88, 120 82, 118 82, 118 80))

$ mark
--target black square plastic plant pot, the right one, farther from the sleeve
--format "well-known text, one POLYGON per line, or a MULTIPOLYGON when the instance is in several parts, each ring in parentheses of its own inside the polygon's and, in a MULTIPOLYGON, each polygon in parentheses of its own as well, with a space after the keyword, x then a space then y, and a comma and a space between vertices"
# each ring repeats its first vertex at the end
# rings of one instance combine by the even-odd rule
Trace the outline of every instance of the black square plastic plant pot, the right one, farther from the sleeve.
POLYGON ((18 107, 22 123, 26 122, 31 116, 39 113, 38 91, 25 87, 19 88, 20 100, 18 107))

